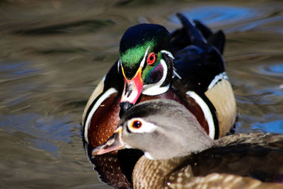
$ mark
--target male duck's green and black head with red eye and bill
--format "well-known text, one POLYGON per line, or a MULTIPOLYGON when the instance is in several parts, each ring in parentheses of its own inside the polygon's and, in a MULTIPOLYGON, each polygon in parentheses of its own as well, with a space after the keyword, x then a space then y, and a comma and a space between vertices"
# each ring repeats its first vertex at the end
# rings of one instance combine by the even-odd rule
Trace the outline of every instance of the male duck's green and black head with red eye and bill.
POLYGON ((170 34, 157 24, 129 28, 120 41, 119 70, 124 77, 120 115, 139 100, 168 91, 173 76, 173 55, 169 52, 170 34))

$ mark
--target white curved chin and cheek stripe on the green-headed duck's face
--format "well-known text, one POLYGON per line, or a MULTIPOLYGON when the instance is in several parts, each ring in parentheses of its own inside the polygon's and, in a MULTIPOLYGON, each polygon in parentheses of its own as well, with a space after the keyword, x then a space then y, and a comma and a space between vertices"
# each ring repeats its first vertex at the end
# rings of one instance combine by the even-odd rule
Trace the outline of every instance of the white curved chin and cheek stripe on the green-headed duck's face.
POLYGON ((154 95, 162 94, 162 93, 165 93, 166 91, 168 91, 170 84, 168 84, 167 86, 161 87, 161 85, 163 84, 163 82, 166 79, 168 67, 166 65, 166 62, 163 59, 161 59, 160 62, 161 62, 161 65, 163 67, 162 78, 155 84, 144 85, 144 88, 143 88, 141 93, 148 95, 148 96, 154 96, 154 95))

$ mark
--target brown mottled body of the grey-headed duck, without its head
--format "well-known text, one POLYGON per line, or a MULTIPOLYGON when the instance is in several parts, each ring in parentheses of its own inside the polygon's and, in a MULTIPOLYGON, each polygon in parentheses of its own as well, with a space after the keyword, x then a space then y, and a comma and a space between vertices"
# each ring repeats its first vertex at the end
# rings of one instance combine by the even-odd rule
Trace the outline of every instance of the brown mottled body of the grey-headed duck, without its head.
POLYGON ((142 156, 134 167, 134 188, 283 187, 282 135, 235 134, 217 142, 218 147, 173 159, 142 156))

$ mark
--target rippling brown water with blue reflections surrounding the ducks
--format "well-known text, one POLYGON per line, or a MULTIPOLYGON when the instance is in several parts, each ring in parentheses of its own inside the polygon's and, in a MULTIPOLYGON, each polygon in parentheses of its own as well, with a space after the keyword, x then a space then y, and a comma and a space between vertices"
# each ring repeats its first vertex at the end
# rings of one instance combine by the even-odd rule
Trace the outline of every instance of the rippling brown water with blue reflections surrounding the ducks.
POLYGON ((236 132, 283 134, 282 1, 0 1, 0 188, 109 188, 81 142, 93 88, 136 23, 226 33, 236 132))

